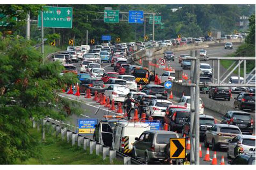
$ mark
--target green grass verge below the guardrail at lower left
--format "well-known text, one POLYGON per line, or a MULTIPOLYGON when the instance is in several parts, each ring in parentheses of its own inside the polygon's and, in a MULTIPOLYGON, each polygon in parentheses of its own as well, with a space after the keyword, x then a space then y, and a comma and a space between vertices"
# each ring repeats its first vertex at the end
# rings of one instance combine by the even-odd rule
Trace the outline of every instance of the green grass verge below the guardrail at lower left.
MULTIPOLYGON (((27 161, 18 161, 18 164, 70 164, 70 165, 99 165, 99 164, 110 164, 109 158, 102 160, 101 155, 95 153, 89 154, 89 148, 84 151, 82 147, 71 146, 71 143, 61 141, 60 138, 51 136, 45 133, 45 142, 41 142, 41 133, 37 132, 36 129, 31 129, 30 133, 33 137, 38 139, 38 145, 41 148, 41 154, 38 158, 30 158, 27 161)), ((115 159, 113 164, 123 164, 121 160, 115 159)))

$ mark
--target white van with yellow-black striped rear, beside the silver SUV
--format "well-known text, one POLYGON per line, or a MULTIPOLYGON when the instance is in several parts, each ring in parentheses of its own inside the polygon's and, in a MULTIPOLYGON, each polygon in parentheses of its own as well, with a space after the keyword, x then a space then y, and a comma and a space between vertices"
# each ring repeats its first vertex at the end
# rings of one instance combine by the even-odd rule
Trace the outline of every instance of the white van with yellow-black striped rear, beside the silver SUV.
POLYGON ((146 130, 150 130, 150 126, 147 123, 117 122, 112 137, 112 148, 124 154, 131 154, 135 137, 140 137, 146 130))

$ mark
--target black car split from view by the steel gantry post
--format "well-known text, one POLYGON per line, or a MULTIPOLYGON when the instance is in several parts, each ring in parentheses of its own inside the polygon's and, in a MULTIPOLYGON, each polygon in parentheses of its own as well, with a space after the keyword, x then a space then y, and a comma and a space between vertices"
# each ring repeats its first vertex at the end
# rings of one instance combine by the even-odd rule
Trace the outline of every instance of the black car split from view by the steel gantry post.
MULTIPOLYGON (((200 140, 204 141, 205 131, 209 130, 216 121, 213 116, 210 115, 199 115, 199 125, 200 125, 200 140)), ((182 136, 186 134, 188 137, 190 132, 190 117, 188 117, 187 121, 184 123, 182 128, 182 136)))

